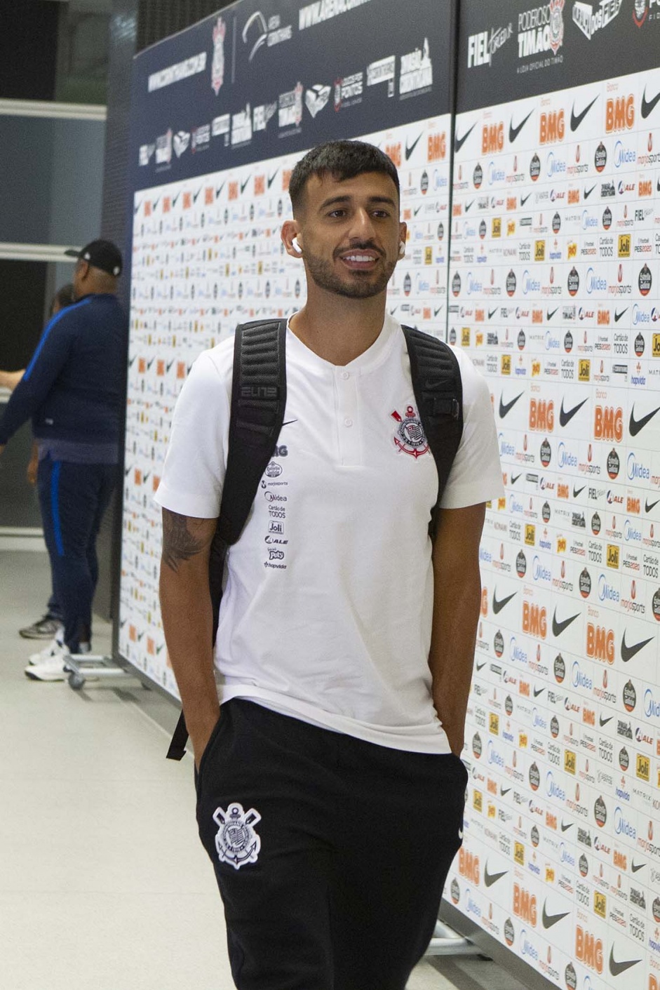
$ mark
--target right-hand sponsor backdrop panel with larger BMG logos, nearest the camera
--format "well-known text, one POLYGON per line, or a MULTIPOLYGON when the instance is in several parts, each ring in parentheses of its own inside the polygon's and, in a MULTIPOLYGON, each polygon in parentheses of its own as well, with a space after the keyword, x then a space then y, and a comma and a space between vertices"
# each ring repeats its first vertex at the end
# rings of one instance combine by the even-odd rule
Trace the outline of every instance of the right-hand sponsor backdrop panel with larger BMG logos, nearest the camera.
POLYGON ((461 4, 450 341, 487 376, 446 895, 567 990, 660 985, 660 3, 461 4))

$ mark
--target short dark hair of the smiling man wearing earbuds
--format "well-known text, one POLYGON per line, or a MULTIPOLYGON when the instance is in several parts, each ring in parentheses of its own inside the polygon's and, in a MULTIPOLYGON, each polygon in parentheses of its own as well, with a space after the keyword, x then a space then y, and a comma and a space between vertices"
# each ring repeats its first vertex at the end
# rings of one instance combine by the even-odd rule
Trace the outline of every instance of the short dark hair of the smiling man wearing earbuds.
POLYGON ((329 141, 312 148, 300 159, 291 174, 289 196, 294 215, 303 208, 305 186, 313 175, 323 177, 330 174, 336 181, 343 182, 365 172, 389 175, 397 195, 400 194, 397 167, 380 148, 363 141, 329 141))

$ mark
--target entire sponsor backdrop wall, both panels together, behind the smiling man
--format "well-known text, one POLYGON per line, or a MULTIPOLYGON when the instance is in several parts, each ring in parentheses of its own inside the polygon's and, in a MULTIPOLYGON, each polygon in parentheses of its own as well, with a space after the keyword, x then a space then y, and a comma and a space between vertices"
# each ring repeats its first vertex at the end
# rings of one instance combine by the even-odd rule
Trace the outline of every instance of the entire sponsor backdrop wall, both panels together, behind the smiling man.
POLYGON ((390 307, 487 376, 507 487, 447 903, 558 987, 658 990, 660 0, 463 0, 450 204, 452 22, 242 0, 136 59, 118 650, 176 695, 152 504, 176 396, 236 322, 302 305, 290 171, 367 137, 411 231, 390 307))

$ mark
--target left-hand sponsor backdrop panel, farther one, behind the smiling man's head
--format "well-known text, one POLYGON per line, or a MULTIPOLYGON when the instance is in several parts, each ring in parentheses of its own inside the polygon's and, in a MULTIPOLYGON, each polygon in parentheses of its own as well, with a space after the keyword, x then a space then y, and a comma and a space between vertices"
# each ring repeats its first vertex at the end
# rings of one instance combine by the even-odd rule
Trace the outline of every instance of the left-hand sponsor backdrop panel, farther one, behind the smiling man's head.
POLYGON ((452 11, 450 0, 242 0, 135 59, 118 650, 172 695, 152 502, 172 410, 201 350, 303 304, 303 264, 280 227, 308 148, 367 136, 396 161, 410 239, 391 308, 445 334, 452 11))

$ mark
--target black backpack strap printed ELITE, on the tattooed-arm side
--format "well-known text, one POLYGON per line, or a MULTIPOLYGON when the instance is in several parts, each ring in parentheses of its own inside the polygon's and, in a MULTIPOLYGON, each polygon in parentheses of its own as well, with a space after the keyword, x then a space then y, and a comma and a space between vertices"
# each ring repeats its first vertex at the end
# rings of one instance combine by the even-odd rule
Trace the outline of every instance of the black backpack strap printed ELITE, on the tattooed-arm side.
MULTIPOLYGON (((227 471, 209 556, 213 643, 218 633, 227 548, 236 544, 242 533, 282 429, 286 406, 286 326, 286 320, 261 320, 236 327, 227 471)), ((167 758, 182 759, 187 740, 182 712, 167 758)))

